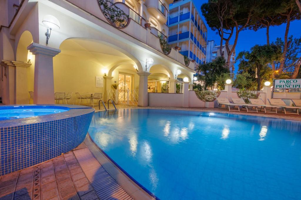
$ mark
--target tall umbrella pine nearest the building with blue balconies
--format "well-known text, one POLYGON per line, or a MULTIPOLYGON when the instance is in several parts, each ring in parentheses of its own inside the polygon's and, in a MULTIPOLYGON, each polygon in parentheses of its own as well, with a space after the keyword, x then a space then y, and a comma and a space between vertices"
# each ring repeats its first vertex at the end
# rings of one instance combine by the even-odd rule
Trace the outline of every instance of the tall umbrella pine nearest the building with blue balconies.
MULTIPOLYGON (((229 67, 231 55, 237 44, 240 31, 248 28, 254 22, 253 13, 259 6, 256 0, 209 0, 202 4, 201 10, 207 24, 213 31, 218 31, 221 37, 221 46, 225 40, 227 50, 227 65, 229 67), (226 36, 225 36, 226 35, 226 36), (234 35, 233 47, 229 48, 229 42, 234 35)), ((220 52, 222 50, 220 47, 220 52)), ((234 69, 233 69, 234 70, 234 69)))

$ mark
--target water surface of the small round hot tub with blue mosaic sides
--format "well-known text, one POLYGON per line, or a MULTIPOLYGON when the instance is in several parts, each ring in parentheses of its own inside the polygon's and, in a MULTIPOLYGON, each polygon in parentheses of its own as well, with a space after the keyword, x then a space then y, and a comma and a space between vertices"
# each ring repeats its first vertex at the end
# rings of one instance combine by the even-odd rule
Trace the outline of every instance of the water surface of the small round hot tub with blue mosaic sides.
POLYGON ((50 115, 68 110, 69 108, 61 106, 0 106, 0 120, 50 115))

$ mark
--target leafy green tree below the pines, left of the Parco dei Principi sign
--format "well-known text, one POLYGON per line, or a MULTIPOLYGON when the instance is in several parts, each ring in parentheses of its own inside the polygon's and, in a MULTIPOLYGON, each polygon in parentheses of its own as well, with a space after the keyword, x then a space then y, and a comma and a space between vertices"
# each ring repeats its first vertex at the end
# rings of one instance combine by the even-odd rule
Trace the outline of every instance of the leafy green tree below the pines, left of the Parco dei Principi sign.
POLYGON ((257 90, 261 89, 263 80, 272 79, 272 69, 269 63, 278 60, 281 56, 281 49, 276 45, 255 45, 250 51, 240 52, 237 56, 239 70, 255 72, 257 76, 257 90))

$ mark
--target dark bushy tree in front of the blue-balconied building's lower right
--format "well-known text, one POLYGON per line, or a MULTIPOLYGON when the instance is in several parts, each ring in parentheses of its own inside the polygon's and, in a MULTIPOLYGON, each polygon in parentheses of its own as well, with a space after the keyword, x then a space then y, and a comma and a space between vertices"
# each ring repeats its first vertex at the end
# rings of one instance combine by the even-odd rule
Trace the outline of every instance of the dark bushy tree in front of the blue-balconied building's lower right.
POLYGON ((220 74, 230 73, 225 64, 225 58, 219 56, 214 61, 200 64, 197 67, 197 71, 201 72, 201 75, 198 75, 198 79, 204 83, 204 90, 212 87, 216 82, 217 76, 220 74))

